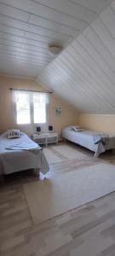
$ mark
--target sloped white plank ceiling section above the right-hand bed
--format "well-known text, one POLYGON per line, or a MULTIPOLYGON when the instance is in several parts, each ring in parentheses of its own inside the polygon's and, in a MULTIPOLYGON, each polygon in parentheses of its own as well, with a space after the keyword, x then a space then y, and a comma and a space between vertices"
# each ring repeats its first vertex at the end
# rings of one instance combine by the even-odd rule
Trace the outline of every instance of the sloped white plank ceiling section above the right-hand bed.
POLYGON ((37 79, 79 112, 115 114, 115 1, 37 79))

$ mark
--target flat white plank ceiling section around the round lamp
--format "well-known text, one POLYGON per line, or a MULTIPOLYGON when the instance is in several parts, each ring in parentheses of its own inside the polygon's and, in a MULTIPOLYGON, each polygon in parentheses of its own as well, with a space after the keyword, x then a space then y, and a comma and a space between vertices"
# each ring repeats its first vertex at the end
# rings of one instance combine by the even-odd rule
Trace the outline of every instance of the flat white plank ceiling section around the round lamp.
MULTIPOLYGON (((110 2, 112 1, 0 0, 0 73, 37 77, 43 68, 54 59, 49 55, 48 45, 59 44, 65 49, 110 2)), ((107 24, 109 21, 106 20, 107 24)), ((113 30, 113 26, 111 30, 113 30)), ((89 32, 89 36, 91 36, 91 32, 89 32)), ((98 42, 96 41, 95 44, 98 42)), ((104 49, 102 50, 104 51, 104 49)), ((60 83, 66 72, 65 68, 63 69, 66 62, 64 55, 67 55, 68 58, 71 57, 71 62, 72 54, 74 54, 74 49, 71 45, 46 70, 46 73, 50 73, 51 67, 54 65, 51 78, 54 79, 54 83, 55 79, 56 81, 59 79, 60 83), (71 48, 72 53, 69 55, 68 51, 71 48), (55 68, 61 59, 62 63, 59 68, 62 73, 59 77, 60 71, 58 69, 55 73, 55 68)), ((66 66, 69 67, 69 65, 68 61, 66 66)), ((69 75, 68 71, 67 75, 69 75)), ((72 79, 75 79, 75 74, 72 79)))

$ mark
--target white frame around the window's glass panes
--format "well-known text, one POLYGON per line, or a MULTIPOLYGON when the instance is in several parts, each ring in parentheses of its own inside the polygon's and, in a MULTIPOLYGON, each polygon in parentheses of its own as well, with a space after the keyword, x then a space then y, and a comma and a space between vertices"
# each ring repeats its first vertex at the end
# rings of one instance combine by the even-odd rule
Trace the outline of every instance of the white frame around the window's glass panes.
MULTIPOLYGON (((28 93, 28 94, 30 94, 30 123, 26 123, 26 124, 18 124, 17 123, 17 109, 16 109, 16 102, 14 101, 13 102, 13 110, 14 110, 14 125, 16 125, 16 126, 26 126, 26 125, 35 125, 35 126, 37 126, 37 125, 41 125, 41 126, 43 126, 43 125, 47 125, 48 124, 48 106, 49 106, 49 103, 48 102, 46 102, 45 103, 45 111, 46 111, 46 122, 45 123, 34 123, 34 107, 33 107, 33 93, 34 93, 34 91, 32 92, 31 90, 29 91, 29 90, 14 90, 14 93, 15 92, 24 92, 24 93, 28 93)), ((37 92, 37 93, 39 93, 39 92, 37 92)), ((40 93, 42 93, 42 92, 40 92, 40 93)), ((44 93, 43 93, 44 94, 44 93)), ((14 95, 13 95, 13 100, 14 100, 14 95)))

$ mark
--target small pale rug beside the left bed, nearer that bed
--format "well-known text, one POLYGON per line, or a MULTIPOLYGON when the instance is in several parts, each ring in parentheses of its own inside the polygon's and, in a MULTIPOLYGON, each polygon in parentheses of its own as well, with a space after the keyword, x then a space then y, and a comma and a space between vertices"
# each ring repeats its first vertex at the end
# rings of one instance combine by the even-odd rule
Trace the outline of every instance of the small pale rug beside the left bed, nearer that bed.
POLYGON ((60 157, 54 154, 51 149, 43 148, 43 154, 45 155, 46 159, 48 160, 49 165, 61 162, 60 157))

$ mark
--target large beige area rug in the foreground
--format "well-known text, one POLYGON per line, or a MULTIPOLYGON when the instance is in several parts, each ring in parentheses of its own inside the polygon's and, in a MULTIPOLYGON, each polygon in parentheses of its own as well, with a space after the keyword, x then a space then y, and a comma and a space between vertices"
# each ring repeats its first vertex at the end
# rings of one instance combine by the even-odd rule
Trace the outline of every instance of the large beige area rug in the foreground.
POLYGON ((40 224, 114 190, 115 166, 105 163, 24 184, 34 224, 40 224))

